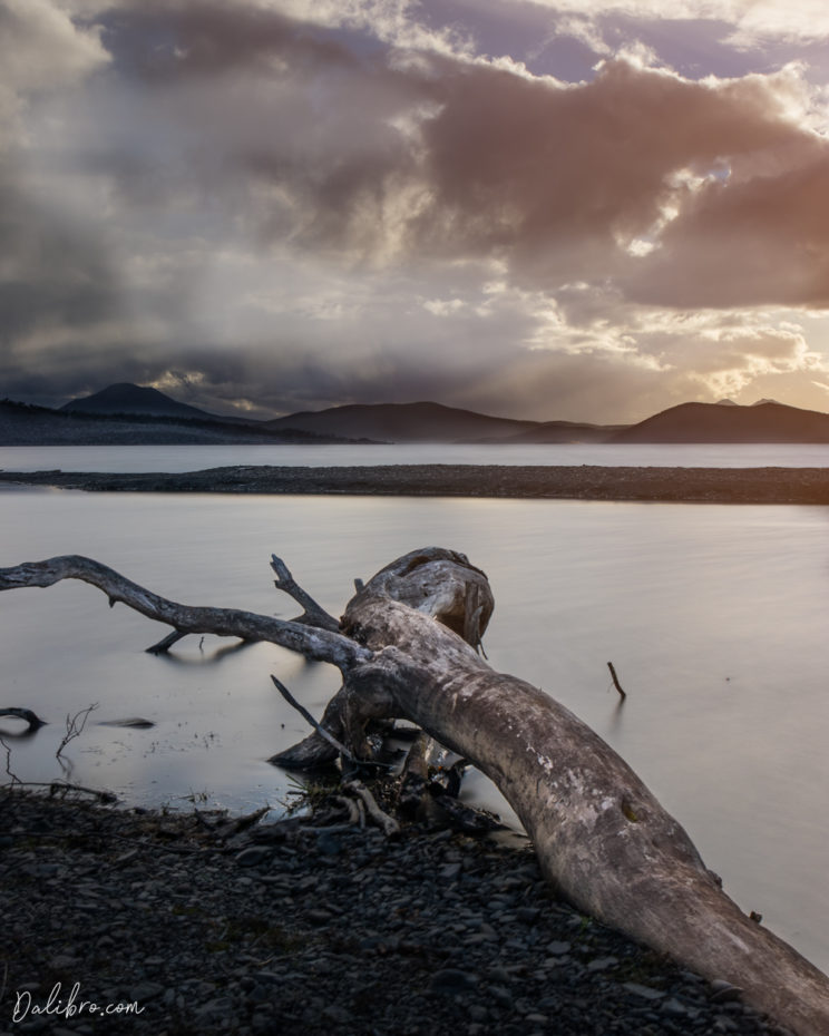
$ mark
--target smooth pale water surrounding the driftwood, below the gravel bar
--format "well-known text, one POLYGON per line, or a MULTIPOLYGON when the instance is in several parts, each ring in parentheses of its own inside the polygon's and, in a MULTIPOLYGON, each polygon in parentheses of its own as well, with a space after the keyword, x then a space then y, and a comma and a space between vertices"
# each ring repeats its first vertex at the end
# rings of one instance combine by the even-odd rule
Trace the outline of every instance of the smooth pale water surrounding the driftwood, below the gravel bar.
MULTIPOLYGON (((0 493, 0 565, 88 554, 179 600, 284 616, 272 551, 335 614, 404 551, 466 551, 496 595, 492 666, 606 737, 740 905, 829 968, 829 509, 31 490, 0 493)), ((146 655, 165 633, 82 584, 1 594, 1 701, 51 721, 9 741, 12 769, 60 775, 65 715, 98 702, 74 780, 135 803, 279 804, 291 783, 265 760, 306 730, 269 674, 319 714, 334 672, 209 637, 146 655), (99 725, 133 715, 156 725, 99 725)), ((480 779, 469 794, 495 801, 480 779)))

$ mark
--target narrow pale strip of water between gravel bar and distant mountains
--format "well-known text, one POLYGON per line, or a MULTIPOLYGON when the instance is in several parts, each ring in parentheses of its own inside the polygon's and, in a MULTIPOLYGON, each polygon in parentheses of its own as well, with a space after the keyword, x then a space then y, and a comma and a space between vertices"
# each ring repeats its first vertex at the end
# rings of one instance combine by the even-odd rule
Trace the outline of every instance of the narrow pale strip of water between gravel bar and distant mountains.
POLYGON ((825 468, 829 444, 687 446, 82 446, 0 447, 9 471, 196 471, 225 465, 632 465, 683 468, 825 468))

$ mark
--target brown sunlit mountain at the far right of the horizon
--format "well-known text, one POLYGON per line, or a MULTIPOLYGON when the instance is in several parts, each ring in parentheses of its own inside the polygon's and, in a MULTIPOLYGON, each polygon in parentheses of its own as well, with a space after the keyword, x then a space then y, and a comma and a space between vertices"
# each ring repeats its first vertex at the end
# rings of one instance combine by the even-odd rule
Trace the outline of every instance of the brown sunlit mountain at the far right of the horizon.
POLYGON ((829 413, 761 400, 752 407, 680 403, 609 442, 829 442, 829 413))

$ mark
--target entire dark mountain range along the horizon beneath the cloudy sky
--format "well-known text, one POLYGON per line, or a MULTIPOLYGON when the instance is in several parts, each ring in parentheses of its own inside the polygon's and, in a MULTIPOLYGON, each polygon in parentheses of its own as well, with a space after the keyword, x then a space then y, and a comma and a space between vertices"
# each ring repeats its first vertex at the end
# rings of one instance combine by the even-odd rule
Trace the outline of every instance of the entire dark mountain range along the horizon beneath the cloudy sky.
POLYGON ((271 421, 227 418, 156 389, 109 385, 58 410, 0 401, 0 444, 234 442, 829 442, 829 414, 761 400, 681 403, 637 424, 521 421, 440 403, 377 403, 303 411, 271 421))

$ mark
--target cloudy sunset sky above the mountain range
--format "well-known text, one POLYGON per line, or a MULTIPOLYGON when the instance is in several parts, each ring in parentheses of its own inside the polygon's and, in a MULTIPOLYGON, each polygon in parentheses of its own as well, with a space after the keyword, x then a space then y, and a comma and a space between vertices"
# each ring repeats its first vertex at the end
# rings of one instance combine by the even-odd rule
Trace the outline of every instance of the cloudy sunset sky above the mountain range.
POLYGON ((822 0, 0 0, 0 397, 829 410, 822 0))

